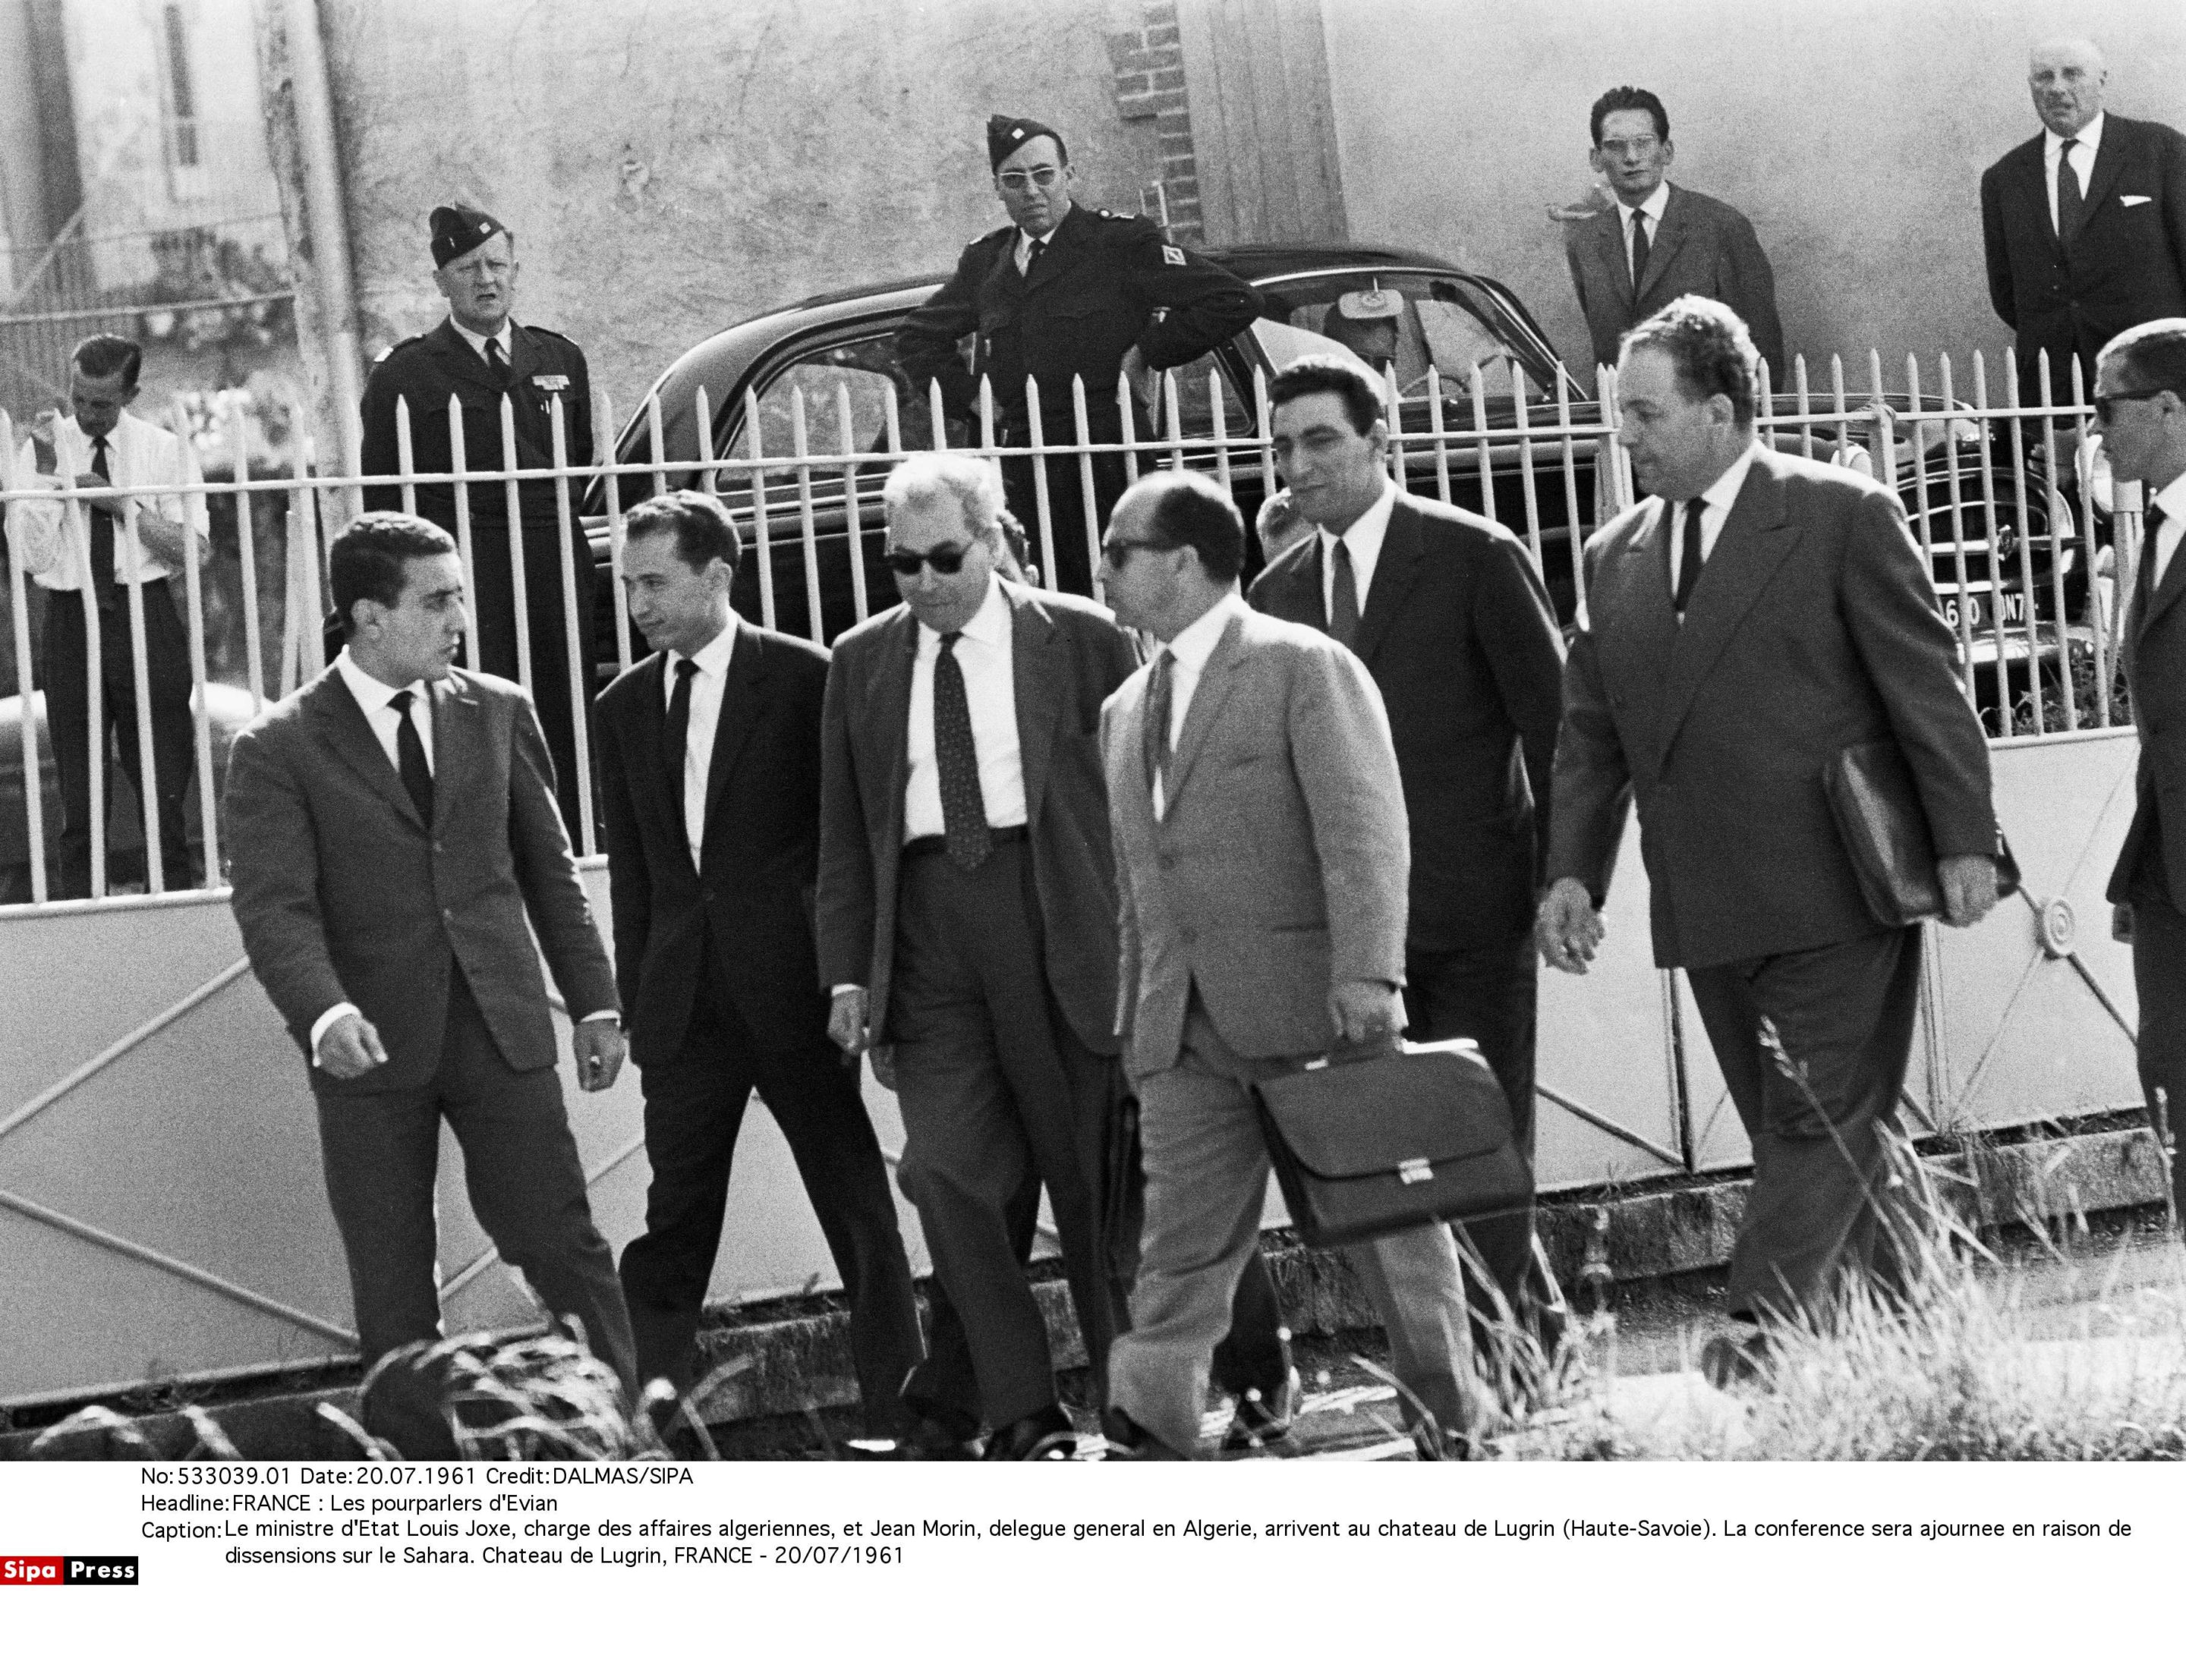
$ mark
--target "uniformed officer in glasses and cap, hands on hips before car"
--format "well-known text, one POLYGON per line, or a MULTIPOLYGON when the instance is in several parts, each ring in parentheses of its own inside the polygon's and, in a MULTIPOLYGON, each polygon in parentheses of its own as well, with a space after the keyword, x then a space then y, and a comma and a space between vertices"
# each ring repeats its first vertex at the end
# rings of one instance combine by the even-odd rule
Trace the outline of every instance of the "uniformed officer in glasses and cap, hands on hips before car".
MULTIPOLYGON (((1086 382, 1086 439, 1124 437, 1117 374, 1139 393, 1132 430, 1152 430, 1145 395, 1152 374, 1204 356, 1242 332, 1259 312, 1253 288, 1204 258, 1170 245, 1145 216, 1073 205, 1078 173, 1062 135, 1032 118, 995 116, 986 125, 995 194, 1010 225, 975 238, 933 297, 912 310, 896 334, 896 354, 920 402, 940 380, 951 419, 977 439, 979 378, 992 380, 995 441, 1032 441, 1025 376, 1041 387, 1041 437, 1047 446, 1078 441, 1071 378, 1086 382), (957 343, 975 336, 966 369, 957 343)), ((1003 457, 1010 509, 1038 540, 1038 492, 1030 457, 1003 457)), ((1095 529, 1124 494, 1121 454, 1093 457, 1095 529)), ((1051 588, 1091 594, 1093 557, 1078 461, 1047 459, 1047 507, 1054 555, 1041 555, 1051 588)))

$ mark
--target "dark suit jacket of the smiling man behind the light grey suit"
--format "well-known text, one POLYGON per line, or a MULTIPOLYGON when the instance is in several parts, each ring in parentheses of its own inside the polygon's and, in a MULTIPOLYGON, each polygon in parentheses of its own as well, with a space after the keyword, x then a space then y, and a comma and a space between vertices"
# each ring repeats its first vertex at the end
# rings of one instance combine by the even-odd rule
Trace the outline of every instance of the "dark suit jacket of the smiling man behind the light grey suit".
MULTIPOLYGON (((1327 629, 1320 542, 1250 590, 1259 612, 1327 629)), ((1563 636, 1511 531, 1397 494, 1353 653, 1397 743, 1412 835, 1410 944, 1462 950, 1524 937, 1548 852, 1563 636)))

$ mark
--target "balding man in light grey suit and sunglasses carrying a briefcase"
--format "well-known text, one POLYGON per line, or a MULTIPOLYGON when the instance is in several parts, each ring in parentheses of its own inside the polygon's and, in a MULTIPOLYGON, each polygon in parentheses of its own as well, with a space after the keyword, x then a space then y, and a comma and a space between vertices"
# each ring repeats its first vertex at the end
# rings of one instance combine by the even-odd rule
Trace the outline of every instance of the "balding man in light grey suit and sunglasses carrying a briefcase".
MULTIPOLYGON (((1200 474, 1119 502, 1100 579, 1163 642, 1102 708, 1117 854, 1124 1068, 1139 1092, 1145 1237, 1108 1357, 1110 1446, 1187 1457, 1213 1346, 1268 1191, 1253 1084, 1403 1029, 1410 841, 1373 677, 1342 644, 1253 612, 1244 524, 1200 474)), ((1351 1250, 1397 1376, 1473 1420, 1447 1226, 1351 1250)))

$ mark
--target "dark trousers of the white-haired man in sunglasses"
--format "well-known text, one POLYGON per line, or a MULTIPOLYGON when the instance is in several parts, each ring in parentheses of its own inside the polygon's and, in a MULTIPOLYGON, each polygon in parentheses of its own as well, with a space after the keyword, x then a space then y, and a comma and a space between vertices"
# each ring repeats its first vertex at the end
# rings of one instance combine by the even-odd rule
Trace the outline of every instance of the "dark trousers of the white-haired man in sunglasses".
POLYGON ((914 1396, 1003 1429, 1056 1403, 1047 1324, 1021 1261, 1027 1178, 1047 1184, 1086 1359, 1106 1368, 1100 1169, 1115 1057, 1080 1042, 1047 987, 1023 841, 997 845, 973 872, 942 852, 905 856, 894 970, 896 1178, 977 1376, 977 1396, 936 1394, 918 1376, 914 1396))

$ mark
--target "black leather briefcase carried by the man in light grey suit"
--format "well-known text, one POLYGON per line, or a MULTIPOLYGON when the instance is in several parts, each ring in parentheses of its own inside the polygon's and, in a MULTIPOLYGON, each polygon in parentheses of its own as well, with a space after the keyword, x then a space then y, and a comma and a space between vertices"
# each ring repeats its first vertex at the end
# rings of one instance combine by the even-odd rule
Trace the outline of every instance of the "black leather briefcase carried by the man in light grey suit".
POLYGON ((1469 1038, 1338 1053, 1257 1090, 1274 1178, 1314 1247, 1532 1199, 1511 1105, 1469 1038))

